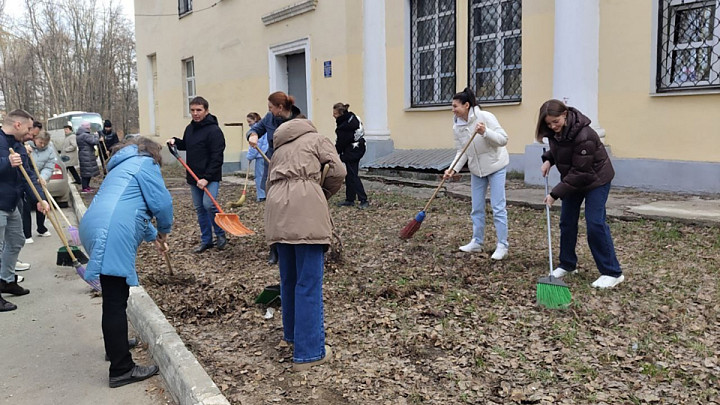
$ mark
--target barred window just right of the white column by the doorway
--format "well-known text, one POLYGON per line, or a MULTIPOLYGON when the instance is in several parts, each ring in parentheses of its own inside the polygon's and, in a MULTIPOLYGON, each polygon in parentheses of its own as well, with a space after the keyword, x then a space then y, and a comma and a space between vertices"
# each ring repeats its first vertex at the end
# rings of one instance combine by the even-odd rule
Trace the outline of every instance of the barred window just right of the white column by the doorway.
POLYGON ((411 104, 448 105, 455 94, 455 0, 412 0, 411 104))

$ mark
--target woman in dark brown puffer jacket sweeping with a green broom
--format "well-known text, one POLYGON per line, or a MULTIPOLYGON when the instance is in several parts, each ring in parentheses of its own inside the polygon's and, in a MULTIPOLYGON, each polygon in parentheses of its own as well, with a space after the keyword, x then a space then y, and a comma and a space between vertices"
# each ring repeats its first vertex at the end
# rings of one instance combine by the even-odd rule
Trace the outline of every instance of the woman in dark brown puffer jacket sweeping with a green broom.
POLYGON ((540 107, 536 140, 547 138, 550 150, 542 155, 540 168, 547 177, 552 166, 560 172, 560 183, 545 196, 545 204, 552 206, 561 199, 560 211, 560 266, 552 275, 562 278, 577 273, 578 220, 585 202, 587 240, 600 278, 592 283, 594 288, 612 288, 625 280, 615 255, 610 227, 605 215, 605 204, 610 193, 610 182, 615 170, 605 145, 594 129, 590 119, 560 100, 548 100, 540 107))

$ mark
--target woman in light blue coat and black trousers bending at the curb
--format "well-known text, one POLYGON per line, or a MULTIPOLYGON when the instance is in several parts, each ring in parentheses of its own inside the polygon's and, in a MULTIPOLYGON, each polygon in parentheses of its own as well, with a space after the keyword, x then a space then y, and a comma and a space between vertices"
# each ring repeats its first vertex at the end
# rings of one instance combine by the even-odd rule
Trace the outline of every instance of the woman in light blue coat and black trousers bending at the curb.
POLYGON ((157 366, 133 362, 125 311, 130 286, 138 285, 138 247, 143 241, 155 241, 165 252, 173 222, 172 197, 160 173, 160 145, 137 137, 113 149, 108 175, 80 221, 80 239, 90 255, 85 279, 99 277, 103 291, 102 329, 111 388, 158 372, 157 366), (153 217, 157 229, 150 222, 153 217))

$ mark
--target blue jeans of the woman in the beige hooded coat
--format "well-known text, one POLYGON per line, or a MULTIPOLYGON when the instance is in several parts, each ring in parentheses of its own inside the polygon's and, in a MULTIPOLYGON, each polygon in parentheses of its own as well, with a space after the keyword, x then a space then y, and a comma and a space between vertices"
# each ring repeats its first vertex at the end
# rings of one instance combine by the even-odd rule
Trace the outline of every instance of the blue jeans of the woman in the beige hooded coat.
POLYGON ((283 339, 294 342, 293 361, 325 357, 322 279, 323 245, 276 243, 280 265, 283 339))

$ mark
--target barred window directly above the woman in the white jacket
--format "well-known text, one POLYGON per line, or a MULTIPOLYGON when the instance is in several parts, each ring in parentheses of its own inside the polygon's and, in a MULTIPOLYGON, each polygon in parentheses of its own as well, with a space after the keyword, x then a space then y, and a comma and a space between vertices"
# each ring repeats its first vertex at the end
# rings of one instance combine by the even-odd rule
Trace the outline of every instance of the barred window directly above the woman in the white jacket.
POLYGON ((470 2, 468 82, 479 102, 522 99, 522 1, 470 2))

